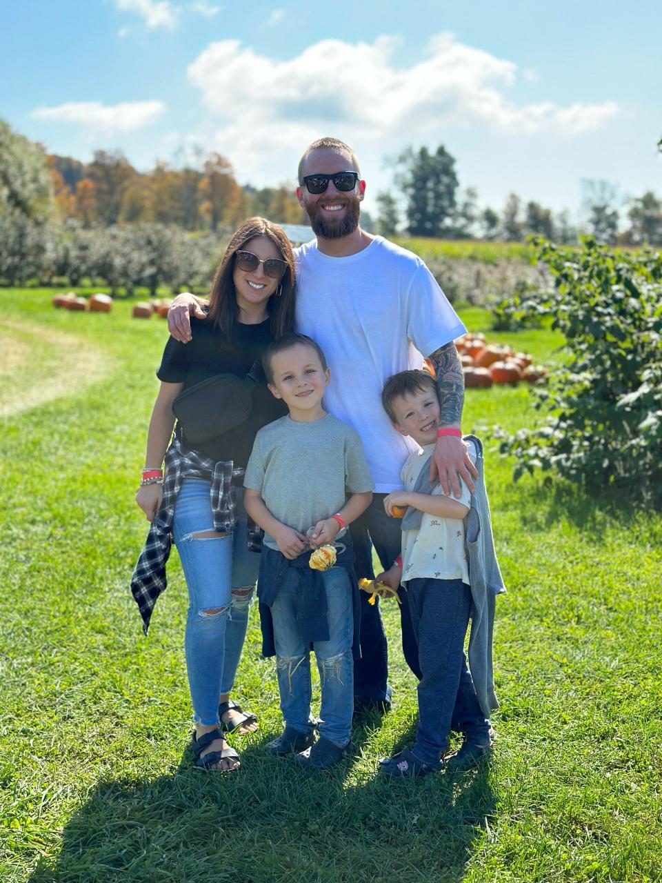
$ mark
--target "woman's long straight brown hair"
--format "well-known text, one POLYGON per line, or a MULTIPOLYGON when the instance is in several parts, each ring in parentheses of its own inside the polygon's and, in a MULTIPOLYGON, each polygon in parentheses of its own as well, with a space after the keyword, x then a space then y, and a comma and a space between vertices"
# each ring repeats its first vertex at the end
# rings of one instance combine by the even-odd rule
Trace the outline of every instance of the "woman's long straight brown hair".
POLYGON ((288 265, 285 275, 279 282, 281 294, 274 292, 267 302, 271 333, 274 337, 280 337, 294 328, 295 271, 294 253, 290 239, 278 224, 271 223, 266 218, 248 218, 229 240, 223 260, 216 268, 214 281, 209 290, 209 319, 229 338, 232 337, 232 332, 239 318, 237 294, 232 279, 235 269, 235 254, 244 249, 251 239, 258 236, 266 236, 271 239, 281 253, 282 260, 288 265))

